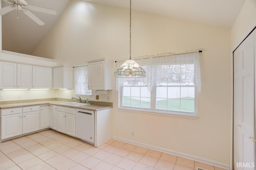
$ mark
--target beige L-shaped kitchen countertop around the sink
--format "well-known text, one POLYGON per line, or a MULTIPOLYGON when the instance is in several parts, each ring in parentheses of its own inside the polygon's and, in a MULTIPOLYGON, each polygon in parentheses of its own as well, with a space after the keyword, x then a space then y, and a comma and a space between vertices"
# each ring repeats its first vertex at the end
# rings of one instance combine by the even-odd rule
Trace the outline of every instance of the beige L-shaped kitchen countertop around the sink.
POLYGON ((103 105, 96 105, 96 104, 89 104, 89 105, 84 105, 84 106, 62 105, 62 103, 66 103, 66 102, 67 101, 50 100, 50 101, 42 101, 42 102, 2 104, 2 105, 0 105, 0 109, 11 109, 11 108, 16 108, 16 107, 27 107, 27 106, 36 106, 36 105, 55 105, 55 106, 70 107, 70 108, 75 108, 75 109, 86 109, 86 110, 91 110, 91 111, 100 111, 100 110, 112 108, 112 106, 103 106, 103 105))

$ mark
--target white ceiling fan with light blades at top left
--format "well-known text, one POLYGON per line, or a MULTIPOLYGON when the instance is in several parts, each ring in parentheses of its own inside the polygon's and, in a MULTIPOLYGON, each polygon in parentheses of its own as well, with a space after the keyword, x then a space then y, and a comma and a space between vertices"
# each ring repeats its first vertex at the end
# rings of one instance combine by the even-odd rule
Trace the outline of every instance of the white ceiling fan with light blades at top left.
POLYGON ((36 17, 34 14, 32 14, 32 12, 30 12, 28 10, 43 12, 46 14, 57 15, 57 12, 55 10, 28 5, 28 3, 25 0, 2 0, 2 1, 8 2, 12 6, 6 6, 2 9, 0 9, 1 16, 8 12, 11 12, 12 10, 22 10, 24 14, 26 14, 29 18, 34 20, 36 23, 38 23, 39 25, 44 25, 43 21, 41 21, 38 17, 36 17))

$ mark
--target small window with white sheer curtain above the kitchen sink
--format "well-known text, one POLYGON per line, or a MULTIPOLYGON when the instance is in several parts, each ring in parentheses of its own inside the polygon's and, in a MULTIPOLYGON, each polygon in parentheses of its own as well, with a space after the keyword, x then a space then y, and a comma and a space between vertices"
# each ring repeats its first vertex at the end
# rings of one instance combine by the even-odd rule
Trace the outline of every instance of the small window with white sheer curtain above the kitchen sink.
POLYGON ((88 66, 75 67, 75 91, 78 95, 92 95, 88 90, 88 66))

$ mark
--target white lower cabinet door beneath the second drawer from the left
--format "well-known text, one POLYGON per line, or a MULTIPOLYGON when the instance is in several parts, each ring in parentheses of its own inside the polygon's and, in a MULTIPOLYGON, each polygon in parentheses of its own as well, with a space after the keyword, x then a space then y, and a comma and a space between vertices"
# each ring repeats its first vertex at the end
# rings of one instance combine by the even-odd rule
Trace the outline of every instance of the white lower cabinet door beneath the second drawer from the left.
POLYGON ((23 113, 22 133, 29 133, 39 130, 39 111, 23 113))

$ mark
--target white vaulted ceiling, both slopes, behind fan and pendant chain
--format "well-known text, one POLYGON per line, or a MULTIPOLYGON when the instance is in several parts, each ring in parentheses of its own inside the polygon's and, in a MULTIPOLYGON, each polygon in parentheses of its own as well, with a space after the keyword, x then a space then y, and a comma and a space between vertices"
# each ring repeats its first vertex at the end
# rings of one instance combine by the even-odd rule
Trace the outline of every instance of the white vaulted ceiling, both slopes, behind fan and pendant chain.
MULTIPOLYGON (((85 0, 121 8, 130 8, 129 0, 85 0)), ((58 19, 70 0, 26 0, 29 5, 51 8, 57 16, 32 12, 46 24, 38 25, 17 11, 2 16, 2 49, 32 54, 41 39, 58 19)), ((245 0, 132 0, 132 10, 231 28, 245 0)), ((2 7, 8 3, 2 2, 2 7)))

